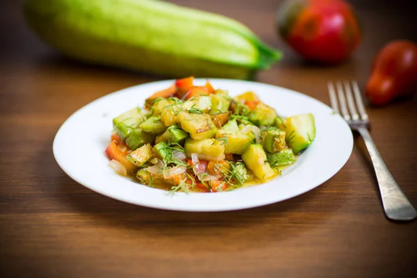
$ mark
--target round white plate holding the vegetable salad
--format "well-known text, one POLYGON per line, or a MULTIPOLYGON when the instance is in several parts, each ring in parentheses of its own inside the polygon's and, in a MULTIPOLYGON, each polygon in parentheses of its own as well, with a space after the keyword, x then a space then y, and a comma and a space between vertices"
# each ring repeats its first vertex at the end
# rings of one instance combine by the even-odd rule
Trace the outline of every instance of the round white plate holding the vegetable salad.
MULTIPOLYGON (((205 79, 196 79, 203 84, 205 79)), ((143 103, 149 95, 172 84, 172 80, 126 88, 101 97, 76 111, 60 127, 54 140, 54 156, 75 181, 120 201, 174 211, 231 211, 280 202, 295 197, 330 179, 345 165, 353 146, 346 122, 320 101, 299 92, 250 81, 211 79, 214 88, 231 96, 247 90, 283 116, 313 113, 316 140, 297 159, 268 183, 223 193, 167 194, 117 175, 108 166, 104 149, 110 142, 113 117, 143 103)))

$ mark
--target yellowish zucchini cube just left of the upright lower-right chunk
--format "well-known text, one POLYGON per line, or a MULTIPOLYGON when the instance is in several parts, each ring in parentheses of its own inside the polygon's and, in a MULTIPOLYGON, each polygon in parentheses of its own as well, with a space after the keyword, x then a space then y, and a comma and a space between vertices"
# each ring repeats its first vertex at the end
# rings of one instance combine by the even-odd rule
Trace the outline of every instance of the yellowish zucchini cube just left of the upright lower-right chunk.
POLYGON ((215 138, 227 138, 224 145, 224 154, 243 154, 247 147, 252 144, 252 138, 240 131, 228 131, 219 129, 215 138))

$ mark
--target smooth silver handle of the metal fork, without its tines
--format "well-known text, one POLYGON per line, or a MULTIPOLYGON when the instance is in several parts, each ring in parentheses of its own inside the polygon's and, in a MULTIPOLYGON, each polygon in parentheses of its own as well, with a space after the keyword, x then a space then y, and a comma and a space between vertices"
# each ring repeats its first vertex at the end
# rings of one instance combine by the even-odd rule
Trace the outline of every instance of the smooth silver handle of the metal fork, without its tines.
POLYGON ((409 199, 404 195, 400 186, 398 186, 398 183, 389 172, 375 143, 370 137, 368 129, 359 127, 357 130, 365 142, 366 149, 368 149, 373 163, 386 217, 391 220, 413 220, 417 217, 416 209, 409 202, 409 199))

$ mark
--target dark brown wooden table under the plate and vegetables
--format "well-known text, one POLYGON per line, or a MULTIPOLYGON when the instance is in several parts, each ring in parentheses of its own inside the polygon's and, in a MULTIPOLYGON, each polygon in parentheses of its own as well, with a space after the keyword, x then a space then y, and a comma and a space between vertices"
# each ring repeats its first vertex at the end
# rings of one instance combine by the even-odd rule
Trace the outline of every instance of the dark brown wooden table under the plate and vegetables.
MULTIPOLYGON (((67 60, 24 25, 18 1, 0 9, 0 273, 2 277, 411 277, 417 222, 386 220, 357 138, 335 177, 299 197, 224 213, 160 211, 88 190, 60 170, 56 131, 81 106, 163 77, 67 60)), ((275 35, 279 1, 175 1, 238 19, 285 58, 256 81, 320 101, 327 80, 366 82, 389 40, 417 41, 414 10, 355 1, 365 35, 336 67, 304 65, 275 35)), ((396 2, 395 2, 396 3, 396 2)), ((416 98, 369 108, 391 173, 417 206, 416 98)))

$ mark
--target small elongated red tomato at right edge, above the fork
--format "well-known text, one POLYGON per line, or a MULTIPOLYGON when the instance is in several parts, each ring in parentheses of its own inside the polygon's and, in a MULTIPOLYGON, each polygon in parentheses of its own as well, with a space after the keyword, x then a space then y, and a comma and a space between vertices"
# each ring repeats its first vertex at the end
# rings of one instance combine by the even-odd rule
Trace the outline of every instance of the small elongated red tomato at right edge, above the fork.
POLYGON ((377 106, 417 91, 417 44, 397 40, 377 54, 366 84, 366 96, 377 106))

